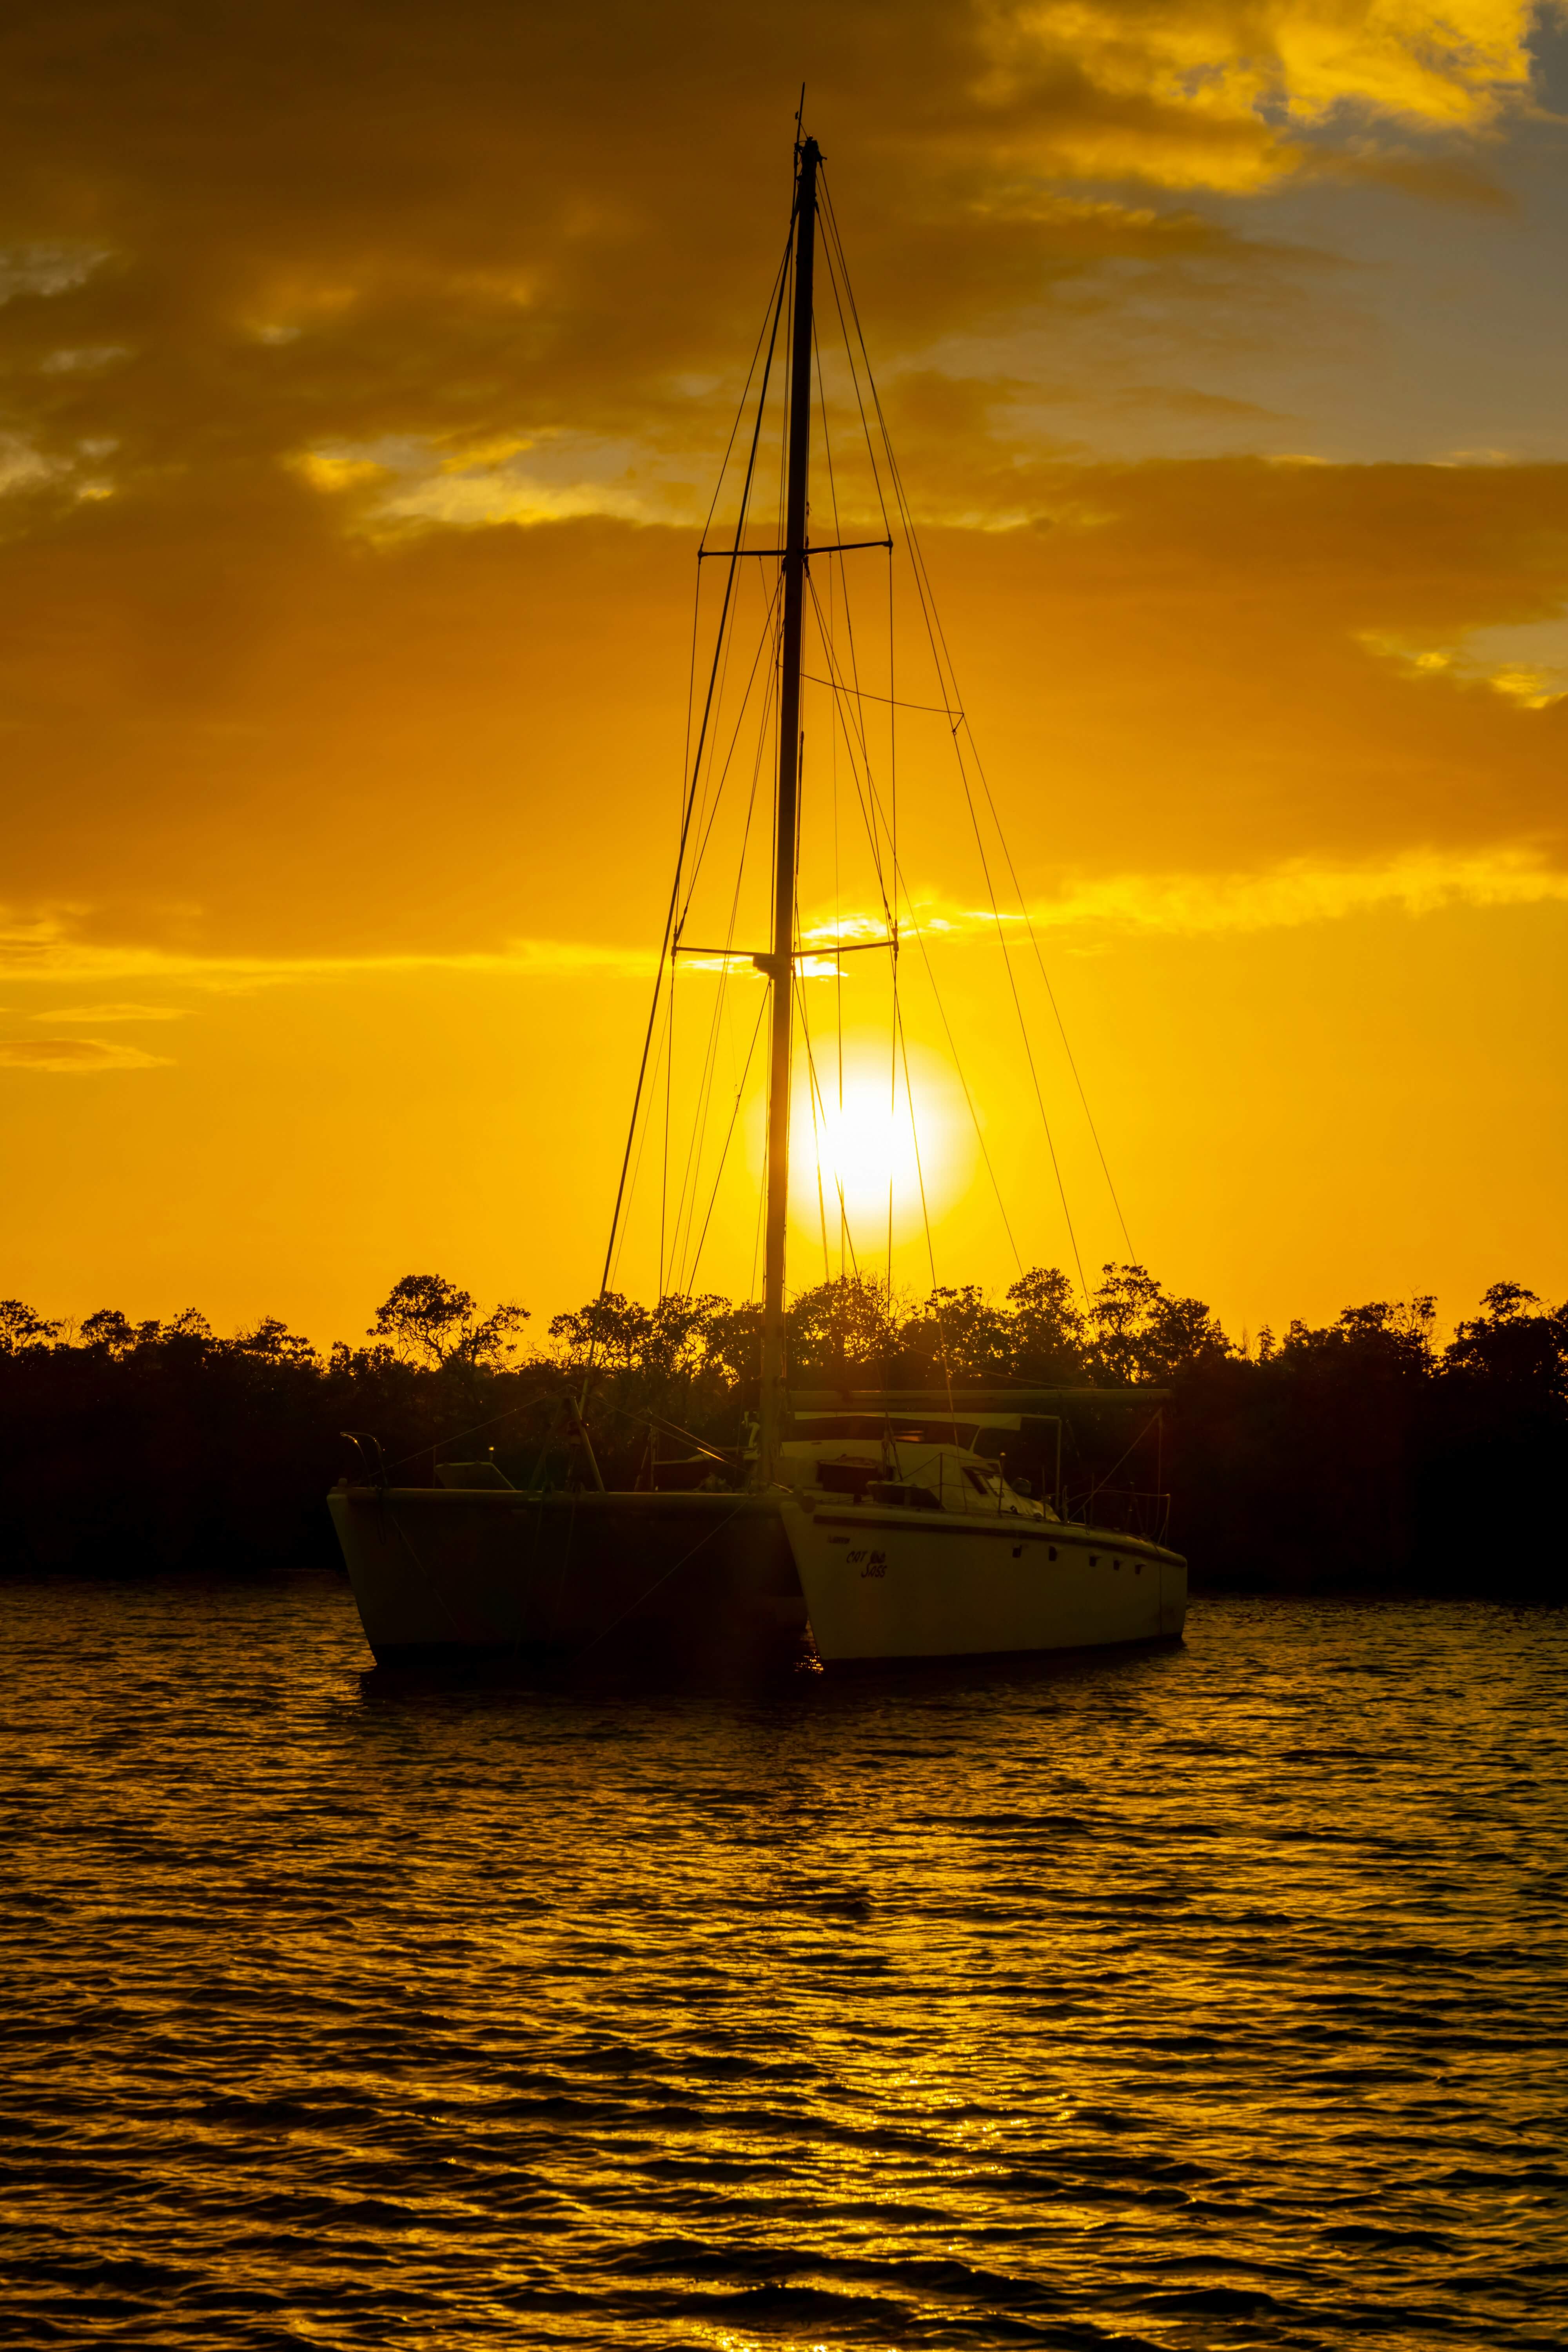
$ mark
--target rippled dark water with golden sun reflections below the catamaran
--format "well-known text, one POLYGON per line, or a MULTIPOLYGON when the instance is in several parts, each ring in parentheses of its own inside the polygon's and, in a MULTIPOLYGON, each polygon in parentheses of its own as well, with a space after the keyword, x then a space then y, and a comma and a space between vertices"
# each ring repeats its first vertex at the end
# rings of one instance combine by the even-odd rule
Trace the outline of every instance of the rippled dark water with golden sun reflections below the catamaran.
POLYGON ((724 1698, 0 1606, 9 2343, 1563 2343, 1561 1613, 724 1698))

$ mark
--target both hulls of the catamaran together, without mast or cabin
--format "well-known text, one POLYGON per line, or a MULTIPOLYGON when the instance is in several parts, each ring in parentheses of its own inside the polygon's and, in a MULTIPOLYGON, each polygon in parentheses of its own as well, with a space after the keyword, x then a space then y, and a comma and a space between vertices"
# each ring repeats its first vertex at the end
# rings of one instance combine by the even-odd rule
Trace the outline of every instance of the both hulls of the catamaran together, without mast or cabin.
POLYGON ((378 1665, 548 1656, 785 1665, 1173 1642, 1187 1564, 1058 1522, 780 1494, 339 1486, 378 1665), (809 1621, 809 1625, 806 1625, 809 1621))

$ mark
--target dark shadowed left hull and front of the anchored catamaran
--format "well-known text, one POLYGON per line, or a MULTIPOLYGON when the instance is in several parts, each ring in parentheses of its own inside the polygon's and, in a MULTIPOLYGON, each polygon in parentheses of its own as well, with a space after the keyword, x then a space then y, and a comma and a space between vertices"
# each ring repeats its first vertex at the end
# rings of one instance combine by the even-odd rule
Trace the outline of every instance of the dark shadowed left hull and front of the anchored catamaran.
POLYGON ((806 1637, 769 1496, 339 1486, 329 1508, 378 1665, 757 1665, 806 1637))

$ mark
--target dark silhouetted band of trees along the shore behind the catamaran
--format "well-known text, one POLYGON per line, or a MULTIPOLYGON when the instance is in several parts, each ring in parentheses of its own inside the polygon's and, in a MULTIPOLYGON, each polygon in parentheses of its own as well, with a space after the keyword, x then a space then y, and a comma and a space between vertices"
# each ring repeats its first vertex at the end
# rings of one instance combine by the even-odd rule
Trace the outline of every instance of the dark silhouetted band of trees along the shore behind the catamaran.
MULTIPOLYGON (((195 1310, 56 1324, 0 1301, 0 1571, 339 1566, 324 1496, 376 1446, 395 1484, 430 1484, 442 1456, 583 1482, 569 1399, 590 1362, 607 1482, 646 1482, 654 1451, 670 1475, 677 1432, 738 1449, 759 1324, 719 1296, 609 1294, 538 1331, 407 1275, 364 1343, 322 1355, 275 1319, 219 1338, 195 1310)), ((1088 1301, 1058 1268, 1001 1298, 849 1275, 797 1296, 790 1367, 799 1388, 1166 1388, 1159 1416, 1072 1404, 1065 1486, 1164 1489, 1194 1590, 1563 1597, 1568 1305, 1514 1282, 1439 1345, 1432 1298, 1232 1341, 1143 1265, 1107 1265, 1088 1301)))

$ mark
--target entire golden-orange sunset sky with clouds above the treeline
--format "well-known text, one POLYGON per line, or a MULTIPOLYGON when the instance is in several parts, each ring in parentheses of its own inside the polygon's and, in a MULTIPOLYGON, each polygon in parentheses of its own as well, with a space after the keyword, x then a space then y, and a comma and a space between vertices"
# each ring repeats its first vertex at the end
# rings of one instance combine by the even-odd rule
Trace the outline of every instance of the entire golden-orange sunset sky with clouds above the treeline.
MULTIPOLYGON (((1138 1256, 1237 1331, 1568 1291, 1566 14, 16 0, 0 1294, 331 1341, 409 1270, 597 1287, 802 80, 1138 1256)), ((1011 1225, 905 955, 931 1249, 999 1289, 1070 1240, 905 757, 1011 1225)), ((1016 971, 1093 1275, 1126 1244, 1016 971)))

